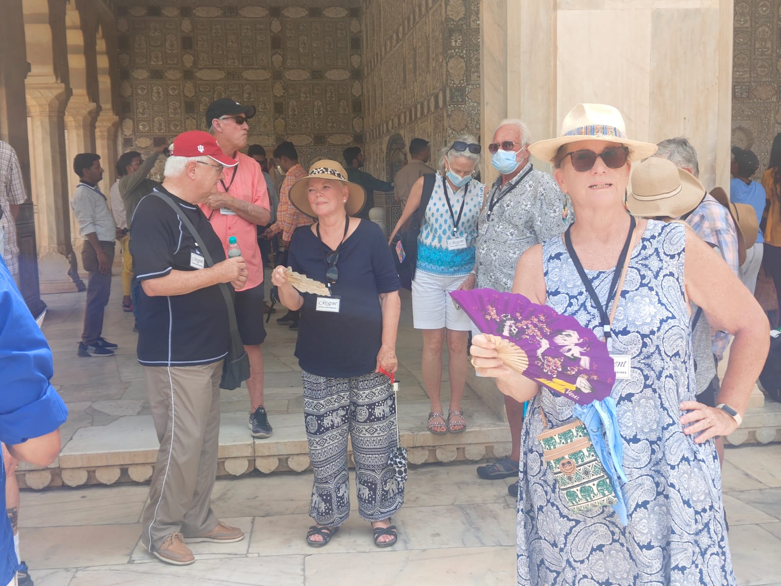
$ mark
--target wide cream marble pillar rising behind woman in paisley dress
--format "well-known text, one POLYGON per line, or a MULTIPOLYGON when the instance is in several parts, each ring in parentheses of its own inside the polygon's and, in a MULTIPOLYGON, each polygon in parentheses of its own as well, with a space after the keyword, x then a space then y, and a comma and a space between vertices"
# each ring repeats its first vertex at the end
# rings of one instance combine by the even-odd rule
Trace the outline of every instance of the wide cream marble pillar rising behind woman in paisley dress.
POLYGON ((483 0, 480 11, 484 141, 505 116, 549 138, 573 105, 602 102, 630 138, 689 138, 706 188, 729 182, 733 0, 483 0))

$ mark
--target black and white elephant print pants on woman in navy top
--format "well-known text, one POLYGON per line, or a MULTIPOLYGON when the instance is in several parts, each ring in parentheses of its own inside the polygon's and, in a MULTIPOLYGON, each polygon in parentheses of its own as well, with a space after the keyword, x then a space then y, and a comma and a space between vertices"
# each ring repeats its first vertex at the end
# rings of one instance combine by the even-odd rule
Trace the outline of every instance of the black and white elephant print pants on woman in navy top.
POLYGON ((347 439, 355 460, 358 513, 367 521, 387 519, 401 508, 404 489, 396 484, 388 456, 396 447, 393 385, 382 373, 360 377, 318 377, 301 371, 309 459, 315 473, 309 515, 338 527, 350 514, 347 439))

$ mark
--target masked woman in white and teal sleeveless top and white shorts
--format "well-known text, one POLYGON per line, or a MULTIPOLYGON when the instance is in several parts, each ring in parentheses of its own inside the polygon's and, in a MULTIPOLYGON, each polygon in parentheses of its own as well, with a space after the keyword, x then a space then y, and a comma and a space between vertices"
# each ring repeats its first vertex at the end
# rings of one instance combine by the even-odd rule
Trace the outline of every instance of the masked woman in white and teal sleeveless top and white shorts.
MULTIPOLYGON (((423 330, 423 384, 431 402, 428 427, 433 434, 461 433, 466 420, 461 398, 466 384, 466 342, 472 322, 451 301, 450 291, 475 286, 477 216, 483 206, 483 188, 474 175, 480 162, 480 145, 465 135, 440 152, 439 170, 420 227, 418 261, 412 279, 412 319, 423 330), (444 419, 440 385, 442 346, 448 345, 450 407, 444 419)), ((424 176, 425 177, 425 176, 424 176)), ((412 187, 399 227, 419 208, 424 177, 412 187)))

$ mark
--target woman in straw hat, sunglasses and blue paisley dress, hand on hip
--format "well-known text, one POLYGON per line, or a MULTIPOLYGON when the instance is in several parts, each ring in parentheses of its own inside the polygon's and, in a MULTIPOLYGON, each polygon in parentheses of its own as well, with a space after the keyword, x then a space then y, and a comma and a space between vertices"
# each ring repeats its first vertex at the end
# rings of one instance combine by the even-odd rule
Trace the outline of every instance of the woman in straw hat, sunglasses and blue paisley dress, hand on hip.
POLYGON ((561 494, 537 440, 542 409, 550 427, 558 427, 572 421, 572 402, 502 366, 485 336, 473 339, 478 373, 530 401, 522 430, 518 582, 735 584, 713 438, 733 432, 746 409, 768 349, 764 313, 689 227, 626 213, 631 166, 656 145, 627 138, 617 109, 576 105, 558 138, 529 150, 554 164, 576 220, 565 238, 521 256, 513 291, 609 338, 612 354, 629 369, 611 394, 625 499, 615 509, 574 513, 566 503, 587 495, 561 494), (735 334, 719 408, 694 401, 688 300, 712 326, 735 334))

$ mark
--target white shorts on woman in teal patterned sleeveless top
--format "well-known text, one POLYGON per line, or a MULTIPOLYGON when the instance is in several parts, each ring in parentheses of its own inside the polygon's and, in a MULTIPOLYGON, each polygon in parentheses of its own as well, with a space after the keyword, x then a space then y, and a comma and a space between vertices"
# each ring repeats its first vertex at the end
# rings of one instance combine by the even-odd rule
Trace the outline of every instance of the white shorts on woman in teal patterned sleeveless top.
POLYGON ((412 323, 416 330, 470 331, 472 320, 463 309, 455 309, 453 298, 448 295, 455 291, 469 275, 443 277, 423 270, 415 271, 412 279, 412 323))

